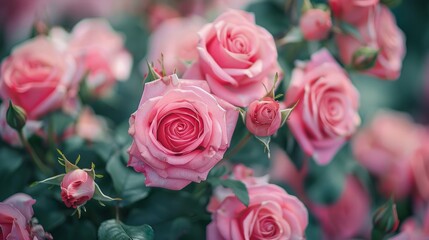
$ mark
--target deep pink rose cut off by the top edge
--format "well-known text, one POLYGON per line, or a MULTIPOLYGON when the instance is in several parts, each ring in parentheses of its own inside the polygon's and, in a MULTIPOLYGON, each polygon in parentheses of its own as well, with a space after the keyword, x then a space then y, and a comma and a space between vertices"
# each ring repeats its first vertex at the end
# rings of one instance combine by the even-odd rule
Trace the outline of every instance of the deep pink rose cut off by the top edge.
POLYGON ((350 24, 367 19, 379 0, 329 0, 329 6, 336 18, 350 24))

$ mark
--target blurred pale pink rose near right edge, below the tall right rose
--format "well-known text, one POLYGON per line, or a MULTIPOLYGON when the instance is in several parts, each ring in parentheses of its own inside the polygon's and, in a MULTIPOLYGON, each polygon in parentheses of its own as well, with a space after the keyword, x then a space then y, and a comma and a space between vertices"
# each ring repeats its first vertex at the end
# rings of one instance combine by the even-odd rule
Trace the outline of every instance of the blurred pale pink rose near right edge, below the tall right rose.
POLYGON ((420 146, 419 128, 399 112, 380 112, 353 139, 355 158, 376 175, 386 197, 406 197, 412 187, 410 162, 420 146))

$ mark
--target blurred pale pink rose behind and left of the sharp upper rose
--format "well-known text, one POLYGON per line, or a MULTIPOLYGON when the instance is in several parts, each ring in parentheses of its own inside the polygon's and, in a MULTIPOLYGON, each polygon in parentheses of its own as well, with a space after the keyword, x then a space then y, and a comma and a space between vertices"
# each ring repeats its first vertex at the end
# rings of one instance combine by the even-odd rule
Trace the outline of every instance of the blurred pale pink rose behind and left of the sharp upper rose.
MULTIPOLYGON (((157 69, 162 69, 159 60, 164 56, 164 67, 168 73, 184 73, 187 66, 198 59, 198 34, 205 20, 192 16, 173 18, 164 21, 152 32, 148 45, 147 61, 153 62, 157 69), (174 41, 171 41, 174 39, 174 41)), ((147 63, 144 61, 144 68, 147 63)))

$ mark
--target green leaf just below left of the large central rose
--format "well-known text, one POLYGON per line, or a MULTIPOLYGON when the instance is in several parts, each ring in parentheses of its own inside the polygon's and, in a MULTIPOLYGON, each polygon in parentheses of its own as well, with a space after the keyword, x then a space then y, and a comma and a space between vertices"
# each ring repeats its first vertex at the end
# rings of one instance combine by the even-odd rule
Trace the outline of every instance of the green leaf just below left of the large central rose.
POLYGON ((126 167, 120 156, 112 157, 107 163, 106 170, 112 177, 116 192, 123 199, 120 202, 121 206, 137 202, 149 194, 150 188, 144 184, 144 175, 126 167))

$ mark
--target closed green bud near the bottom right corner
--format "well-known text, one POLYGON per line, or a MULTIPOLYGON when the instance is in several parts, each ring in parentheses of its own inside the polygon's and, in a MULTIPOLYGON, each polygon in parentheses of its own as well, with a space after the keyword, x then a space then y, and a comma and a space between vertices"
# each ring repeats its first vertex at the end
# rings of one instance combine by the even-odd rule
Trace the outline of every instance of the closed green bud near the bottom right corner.
POLYGON ((392 233, 398 229, 398 214, 396 212, 396 204, 392 199, 374 212, 372 223, 373 231, 378 231, 382 234, 392 233))

